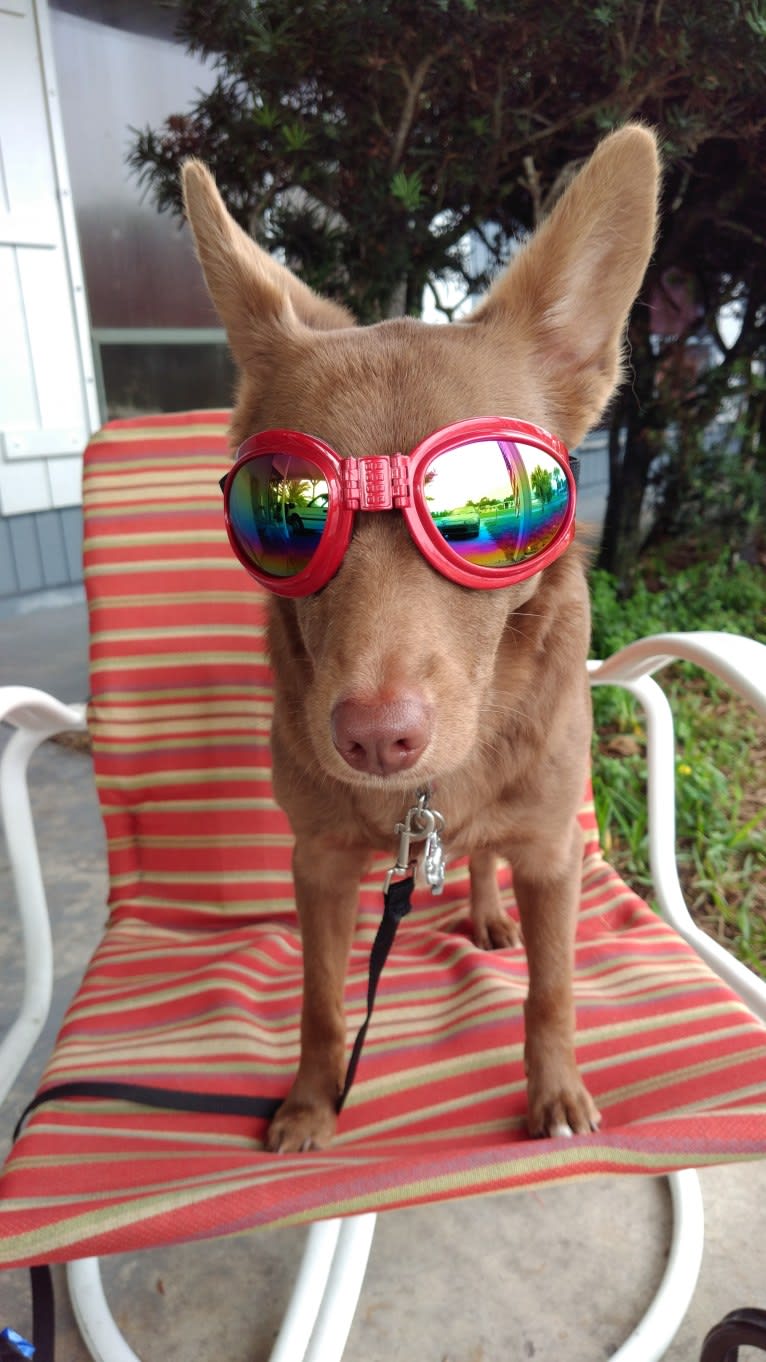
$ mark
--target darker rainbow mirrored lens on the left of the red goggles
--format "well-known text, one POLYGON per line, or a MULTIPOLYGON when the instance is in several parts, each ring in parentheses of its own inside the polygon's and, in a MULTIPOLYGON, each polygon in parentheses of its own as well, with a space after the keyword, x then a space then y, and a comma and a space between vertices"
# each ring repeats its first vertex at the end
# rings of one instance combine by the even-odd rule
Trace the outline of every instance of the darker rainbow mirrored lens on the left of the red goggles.
POLYGON ((316 552, 328 500, 327 479, 311 459, 248 459, 229 488, 229 524, 240 552, 271 577, 297 576, 316 552))

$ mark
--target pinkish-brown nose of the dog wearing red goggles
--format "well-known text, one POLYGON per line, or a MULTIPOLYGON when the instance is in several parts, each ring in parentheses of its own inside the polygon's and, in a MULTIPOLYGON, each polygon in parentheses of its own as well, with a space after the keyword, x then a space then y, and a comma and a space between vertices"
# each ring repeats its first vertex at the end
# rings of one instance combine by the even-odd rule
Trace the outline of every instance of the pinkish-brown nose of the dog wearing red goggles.
POLYGON ((431 707, 402 693, 383 704, 339 700, 333 710, 333 742, 343 761, 369 775, 408 771, 431 741, 431 707))

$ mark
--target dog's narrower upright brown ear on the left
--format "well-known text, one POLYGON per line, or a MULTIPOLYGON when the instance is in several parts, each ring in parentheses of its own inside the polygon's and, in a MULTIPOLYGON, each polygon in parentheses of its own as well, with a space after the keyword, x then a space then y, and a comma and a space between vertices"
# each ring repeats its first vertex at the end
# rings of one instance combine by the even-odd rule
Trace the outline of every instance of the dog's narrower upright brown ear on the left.
POLYGON ((202 161, 184 162, 181 183, 204 281, 243 368, 271 347, 275 328, 334 331, 354 324, 345 308, 312 293, 243 232, 202 161))

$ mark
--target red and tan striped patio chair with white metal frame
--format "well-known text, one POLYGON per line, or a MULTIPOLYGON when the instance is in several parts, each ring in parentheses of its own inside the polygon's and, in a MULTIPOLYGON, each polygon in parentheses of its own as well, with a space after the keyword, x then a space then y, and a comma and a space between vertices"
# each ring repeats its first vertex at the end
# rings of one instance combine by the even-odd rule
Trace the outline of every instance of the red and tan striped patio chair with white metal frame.
MULTIPOLYGON (((600 1173, 669 1173, 679 1211, 699 1231, 694 1175, 680 1170, 766 1155, 766 986, 686 917, 667 802, 668 711, 649 676, 690 656, 766 712, 766 650, 713 635, 662 636, 593 665, 594 684, 626 684, 647 708, 657 893, 675 921, 604 861, 586 793, 578 1058, 602 1129, 527 1139, 523 951, 473 945, 468 870, 457 864, 443 898, 418 892, 399 929, 335 1143, 300 1156, 264 1152, 254 1099, 282 1096, 296 1068, 301 948, 290 832, 270 786, 264 603, 225 539, 217 482, 226 464, 224 411, 110 422, 86 452, 87 727, 109 921, 42 1075, 49 1096, 0 1178, 0 1265, 71 1264, 76 1309, 104 1358, 135 1354, 105 1310, 98 1254, 316 1222, 273 1357, 338 1358, 373 1212, 600 1173), (109 1090, 60 1090, 93 1080, 165 1096, 146 1106, 109 1090), (188 1091, 207 1094, 217 1111, 172 1109, 168 1094, 188 1091)), ((8 832, 23 839, 29 755, 86 718, 20 688, 0 699, 19 730, 4 790, 8 832)), ((15 862, 35 956, 44 904, 31 864, 29 849, 15 862)), ((365 1012, 383 869, 361 892, 352 1028, 365 1012)), ((40 1030, 46 987, 30 983, 33 1001, 0 1051, 4 1091, 40 1030)), ((622 1362, 661 1355, 698 1263, 699 1245, 675 1256, 622 1362)))

